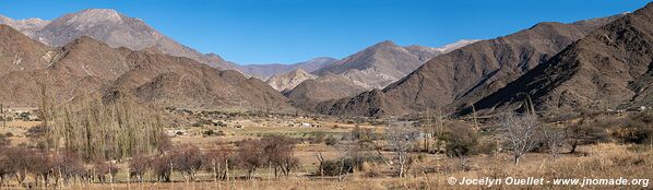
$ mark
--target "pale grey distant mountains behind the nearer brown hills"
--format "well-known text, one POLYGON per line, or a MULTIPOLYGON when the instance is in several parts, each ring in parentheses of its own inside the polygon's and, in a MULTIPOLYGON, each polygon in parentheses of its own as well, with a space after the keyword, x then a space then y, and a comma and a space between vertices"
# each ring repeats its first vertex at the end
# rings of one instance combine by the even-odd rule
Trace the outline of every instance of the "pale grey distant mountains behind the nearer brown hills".
MULTIPOLYGON (((50 49, 67 48, 66 46, 75 43, 76 39, 88 37, 106 44, 110 48, 127 48, 149 54, 185 57, 222 70, 237 70, 244 73, 246 78, 254 76, 268 80, 280 92, 285 91, 284 93, 288 97, 306 95, 311 100, 313 98, 318 100, 340 98, 364 92, 365 90, 382 87, 405 75, 436 55, 448 52, 454 48, 473 43, 473 40, 461 40, 442 48, 430 48, 418 45, 400 47, 391 41, 383 41, 343 60, 316 58, 294 64, 238 66, 225 61, 215 54, 204 55, 176 43, 174 39, 145 24, 142 20, 126 16, 110 9, 87 9, 66 14, 54 21, 40 19, 16 21, 5 16, 1 16, 0 19, 2 24, 20 31, 32 39, 54 47, 50 49), (387 52, 392 52, 392 55, 385 55, 387 52), (337 67, 334 67, 335 64, 337 67), (313 72, 318 76, 302 73, 302 71, 313 72), (270 79, 272 76, 275 78, 270 79), (292 91, 306 80, 311 80, 311 82, 302 85, 309 86, 308 90, 300 87, 298 91, 292 91), (340 85, 342 86, 340 91, 331 91, 330 86, 334 83, 347 83, 347 85, 340 85), (329 93, 322 94, 322 97, 312 95, 316 92, 300 93, 304 91, 316 91, 314 88, 324 88, 329 93)), ((48 47, 43 48, 47 49, 48 47)), ((50 50, 46 56, 59 56, 57 54, 57 51, 50 50)), ((21 62, 22 60, 16 59, 12 61, 21 62)), ((88 71, 88 73, 93 72, 88 71)))

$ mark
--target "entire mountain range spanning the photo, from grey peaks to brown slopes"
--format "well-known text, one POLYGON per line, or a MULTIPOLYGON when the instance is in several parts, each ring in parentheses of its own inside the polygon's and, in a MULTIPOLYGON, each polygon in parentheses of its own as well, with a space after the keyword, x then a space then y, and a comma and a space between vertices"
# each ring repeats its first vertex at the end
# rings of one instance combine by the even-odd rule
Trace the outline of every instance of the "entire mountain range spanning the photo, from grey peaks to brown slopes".
POLYGON ((651 107, 652 4, 440 48, 387 40, 340 60, 247 66, 109 9, 54 21, 0 16, 0 102, 35 107, 46 90, 57 103, 97 93, 105 102, 357 117, 651 107))

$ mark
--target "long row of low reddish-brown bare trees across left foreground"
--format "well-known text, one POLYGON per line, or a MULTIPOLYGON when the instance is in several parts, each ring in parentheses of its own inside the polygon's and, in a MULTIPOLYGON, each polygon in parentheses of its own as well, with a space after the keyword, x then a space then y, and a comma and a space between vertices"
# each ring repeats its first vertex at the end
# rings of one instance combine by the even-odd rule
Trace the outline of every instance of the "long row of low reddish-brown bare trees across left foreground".
MULTIPOLYGON (((259 168, 270 168, 274 176, 288 176, 299 166, 294 156, 294 139, 272 135, 260 140, 245 140, 231 143, 216 143, 212 149, 201 150, 192 144, 175 144, 167 141, 159 146, 158 154, 134 155, 122 169, 127 169, 130 181, 142 182, 146 174, 157 181, 171 181, 173 173, 178 173, 185 181, 194 181, 197 174, 206 170, 214 180, 229 178, 229 170, 242 169, 247 178, 254 178, 259 168)), ((29 146, 10 146, 5 138, 0 138, 0 187, 5 179, 15 179, 25 185, 32 176, 38 186, 59 186, 72 182, 114 182, 120 171, 116 161, 84 162, 74 151, 61 149, 58 152, 29 146), (107 178, 108 177, 108 178, 107 178), (54 180, 52 180, 54 179, 54 180), (107 180, 108 179, 108 180, 107 180), (54 181, 54 183, 52 183, 54 181)), ((27 187, 27 185, 25 185, 27 187)))

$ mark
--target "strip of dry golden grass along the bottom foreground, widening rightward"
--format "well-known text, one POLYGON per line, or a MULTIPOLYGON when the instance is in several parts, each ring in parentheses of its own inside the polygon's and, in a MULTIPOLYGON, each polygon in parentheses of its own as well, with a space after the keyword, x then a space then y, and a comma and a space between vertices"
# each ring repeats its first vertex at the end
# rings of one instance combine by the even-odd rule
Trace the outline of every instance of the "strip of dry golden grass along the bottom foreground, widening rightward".
MULTIPOLYGON (((415 166, 415 173, 406 178, 367 177, 366 171, 356 171, 342 177, 310 177, 297 173, 290 177, 275 179, 265 171, 258 174, 256 180, 185 182, 177 176, 175 182, 132 182, 127 183, 124 174, 119 175, 117 182, 109 183, 73 183, 64 189, 579 189, 579 186, 462 186, 449 185, 447 179, 464 178, 619 178, 650 179, 653 176, 653 152, 636 153, 624 145, 597 144, 580 147, 577 155, 562 155, 553 159, 547 154, 531 154, 520 166, 514 166, 509 156, 479 155, 472 157, 470 170, 456 168, 452 158, 429 159, 415 166), (419 173, 419 167, 436 167, 437 173, 419 173)), ((206 176, 206 178, 210 178, 206 176)), ((586 189, 650 189, 642 186, 587 186, 586 189)))

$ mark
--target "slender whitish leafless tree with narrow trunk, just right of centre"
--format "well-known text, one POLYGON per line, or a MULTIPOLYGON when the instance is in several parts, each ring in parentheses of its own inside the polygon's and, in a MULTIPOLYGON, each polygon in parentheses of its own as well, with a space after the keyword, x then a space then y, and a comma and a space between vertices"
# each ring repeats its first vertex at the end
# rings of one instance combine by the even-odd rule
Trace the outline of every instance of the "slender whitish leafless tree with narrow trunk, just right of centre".
POLYGON ((394 168, 399 177, 405 177, 407 164, 409 163, 408 153, 415 147, 415 141, 419 136, 419 131, 414 127, 390 123, 385 130, 388 145, 395 153, 394 168))

